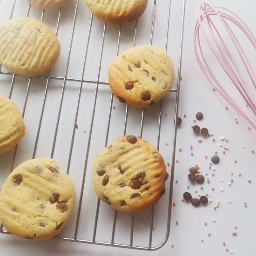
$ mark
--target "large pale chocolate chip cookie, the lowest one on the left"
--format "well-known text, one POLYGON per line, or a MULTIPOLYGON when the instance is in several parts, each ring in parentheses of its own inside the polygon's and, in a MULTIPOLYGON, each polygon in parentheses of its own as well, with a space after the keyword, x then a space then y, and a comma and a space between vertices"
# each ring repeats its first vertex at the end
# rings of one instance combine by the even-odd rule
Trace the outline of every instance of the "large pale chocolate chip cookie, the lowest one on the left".
POLYGON ((0 222, 13 235, 47 239, 66 225, 75 204, 69 176, 53 159, 23 162, 0 190, 0 222))

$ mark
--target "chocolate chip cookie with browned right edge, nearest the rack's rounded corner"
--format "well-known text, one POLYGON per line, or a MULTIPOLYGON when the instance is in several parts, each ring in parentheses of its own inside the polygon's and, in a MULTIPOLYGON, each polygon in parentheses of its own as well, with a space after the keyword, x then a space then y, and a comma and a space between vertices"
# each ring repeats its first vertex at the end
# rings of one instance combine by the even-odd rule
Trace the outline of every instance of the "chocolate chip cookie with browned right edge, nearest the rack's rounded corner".
POLYGON ((133 135, 115 139, 94 161, 96 194, 124 212, 138 211, 158 202, 165 192, 167 177, 157 149, 133 135))

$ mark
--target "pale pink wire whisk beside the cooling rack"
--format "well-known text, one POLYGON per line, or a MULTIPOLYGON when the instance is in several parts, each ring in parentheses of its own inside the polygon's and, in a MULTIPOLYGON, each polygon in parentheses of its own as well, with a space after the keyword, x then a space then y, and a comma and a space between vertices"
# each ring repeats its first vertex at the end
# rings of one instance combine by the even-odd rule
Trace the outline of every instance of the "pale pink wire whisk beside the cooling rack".
MULTIPOLYGON (((247 37, 254 50, 256 50, 256 38, 249 29, 249 27, 243 22, 243 20, 230 11, 229 9, 221 6, 212 6, 211 4, 204 2, 199 5, 198 8, 198 21, 195 25, 194 31, 194 49, 196 60, 206 78, 216 88, 222 97, 228 101, 228 103, 236 109, 236 111, 243 116, 243 118, 256 130, 256 76, 252 69, 252 65, 249 62, 248 55, 245 54, 245 50, 241 45, 241 42, 237 39, 236 34, 231 29, 229 24, 236 25, 240 31, 247 37), (216 27, 213 19, 217 17, 219 19, 218 24, 226 29, 226 35, 229 35, 232 43, 235 46, 235 53, 232 51, 230 45, 228 46, 216 27), (231 23, 230 23, 231 22, 231 23), (206 28, 206 29, 205 29, 206 28), (228 75, 230 81, 235 85, 236 89, 242 95, 247 106, 251 109, 253 115, 249 117, 242 108, 240 108, 235 100, 230 97, 227 90, 218 81, 217 77, 213 74, 213 71, 209 67, 206 54, 203 53, 202 44, 200 41, 200 35, 203 35, 212 53, 216 57, 224 72, 228 75), (238 55, 237 55, 238 54, 238 55), (237 65, 236 57, 240 58, 241 63, 246 70, 244 74, 241 72, 241 68, 237 65), (249 75, 249 82, 246 81, 243 75, 249 75)), ((209 53, 207 52, 207 55, 209 53)), ((248 79, 247 79, 248 80, 248 79)), ((227 85, 226 85, 227 87, 227 85)), ((230 89, 230 88, 229 88, 230 89)))

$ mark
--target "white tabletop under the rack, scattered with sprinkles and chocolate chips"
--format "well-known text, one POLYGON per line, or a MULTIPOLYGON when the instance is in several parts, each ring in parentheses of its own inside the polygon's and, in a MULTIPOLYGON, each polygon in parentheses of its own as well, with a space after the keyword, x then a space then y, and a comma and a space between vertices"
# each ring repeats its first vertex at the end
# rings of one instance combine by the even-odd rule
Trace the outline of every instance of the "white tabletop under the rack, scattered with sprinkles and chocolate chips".
MULTIPOLYGON (((165 32, 166 32, 166 15, 165 10, 167 0, 158 0, 155 16, 155 31, 153 36, 153 44, 165 47, 165 32), (162 23, 164 26, 162 26, 162 23)), ((180 104, 179 104, 179 116, 182 117, 182 125, 178 128, 177 132, 177 152, 176 159, 178 163, 175 164, 175 180, 178 183, 174 184, 173 190, 173 202, 176 206, 172 208, 171 216, 171 231, 168 242, 159 250, 154 252, 120 249, 120 248, 109 248, 106 246, 97 246, 81 243, 68 243, 55 240, 48 241, 30 241, 25 239, 19 239, 12 235, 0 234, 0 249, 1 255, 173 255, 173 256, 185 256, 185 255, 229 255, 230 250, 233 251, 234 255, 256 255, 255 245, 255 210, 256 210, 256 154, 252 154, 251 150, 256 151, 256 132, 248 130, 248 125, 242 120, 242 118, 236 114, 236 112, 229 108, 226 110, 225 107, 229 105, 218 95, 213 92, 209 82, 203 77, 201 70, 199 69, 193 51, 193 33, 194 26, 197 19, 197 7, 199 0, 187 0, 186 1, 186 13, 185 13, 185 27, 184 27, 184 43, 183 43, 183 55, 182 55, 182 81, 181 81, 181 93, 180 93, 180 104), (204 114, 202 121, 197 121, 197 124, 202 127, 207 127, 210 133, 214 134, 216 142, 212 141, 212 138, 201 138, 202 143, 198 143, 198 137, 194 135, 191 130, 193 120, 195 119, 195 113, 201 111, 204 114), (183 115, 186 114, 186 118, 183 115), (235 123, 234 116, 239 121, 235 123), (220 137, 225 136, 228 142, 220 141, 220 137), (222 154, 223 147, 219 147, 219 143, 223 144, 223 147, 229 147, 229 150, 225 155, 222 154), (194 155, 190 155, 190 145, 193 145, 194 155), (245 146, 243 148, 242 146, 245 146), (179 152, 179 148, 182 151, 179 152), (210 157, 214 155, 214 150, 218 151, 218 155, 221 161, 216 165, 215 176, 212 176, 212 170, 209 170, 210 157), (208 159, 205 159, 205 155, 208 159), (235 163, 234 161, 237 161, 235 163), (202 174, 208 173, 210 183, 204 182, 203 190, 200 186, 190 184, 187 178, 188 168, 198 164, 201 167, 202 174), (234 175, 230 173, 233 172, 234 175), (241 177, 238 175, 241 173, 241 177), (222 182, 220 182, 222 179, 222 182), (234 182, 231 186, 228 182, 233 179, 234 182), (252 182, 249 184, 248 180, 252 182), (187 189, 187 185, 190 189, 187 189), (212 188, 215 188, 213 191, 212 188), (223 190, 223 192, 220 191, 223 190), (191 204, 181 201, 182 194, 185 191, 189 191, 193 196, 196 197, 195 190, 201 194, 208 193, 212 199, 212 203, 209 203, 206 207, 194 208, 191 204), (231 203, 228 203, 228 200, 231 203), (213 207, 216 205, 216 201, 220 201, 218 209, 214 210, 213 207), (243 202, 247 202, 248 207, 243 206, 243 202), (216 222, 213 222, 213 219, 216 222), (179 224, 176 225, 175 221, 179 224), (204 225, 207 222, 207 225, 204 225), (237 225, 237 229, 234 229, 234 225, 237 225), (231 232, 236 231, 237 236, 232 236, 231 232), (208 236, 208 233, 211 236, 208 236), (201 238, 204 242, 201 242, 201 238), (226 246, 223 246, 223 242, 226 246), (171 245, 174 248, 171 248, 171 245), (229 249, 226 252, 226 248, 229 249)), ((235 1, 235 0, 222 0, 222 1, 211 1, 212 4, 223 5, 234 10, 239 14, 243 20, 251 27, 254 34, 256 34, 255 27, 255 9, 256 3, 246 0, 235 1)), ((13 17, 26 16, 27 3, 25 0, 18 1, 16 8, 13 13, 13 17), (23 8, 23 7, 24 8, 23 8)), ((67 77, 80 78, 81 76, 81 65, 83 62, 83 51, 77 53, 80 46, 84 46, 87 39, 88 26, 84 28, 79 18, 88 22, 90 19, 90 13, 84 6, 83 1, 80 1, 80 7, 77 15, 77 25, 74 34, 73 48, 71 52, 71 59, 69 69, 67 71, 67 77), (80 32, 79 32, 80 31, 80 32), (82 32, 81 32, 82 31, 82 32), (76 34, 77 32, 77 34, 76 34), (82 57, 81 57, 82 56, 82 57)), ((8 19, 10 15, 11 1, 1 0, 0 1, 0 22, 1 24, 8 19)), ((33 7, 31 7, 33 8, 33 7)), ((62 23, 59 30, 59 39, 61 41, 62 49, 68 49, 70 41, 70 30, 72 28, 73 17, 69 17, 69 12, 74 13, 74 3, 63 7, 62 23), (70 20, 70 23, 65 22, 65 19, 70 20), (66 27, 67 26, 67 27, 66 27)), ((149 0, 149 5, 146 12, 143 14, 138 22, 138 36, 136 38, 136 45, 148 44, 150 39, 150 30, 152 22, 152 11, 153 1, 149 0), (149 21, 148 21, 149 20, 149 21), (150 24, 149 24, 150 23, 150 24)), ((56 22, 56 11, 46 12, 46 23, 54 29, 56 22)), ((72 14, 73 15, 73 14, 72 14)), ((40 13, 31 9, 31 17, 40 19, 40 13)), ((172 56, 175 64, 175 75, 177 78, 178 61, 179 61, 179 44, 180 44, 180 33, 181 33, 181 18, 182 18, 182 1, 172 0, 171 3, 171 16, 170 16, 170 27, 168 37, 168 53, 172 56)), ((66 20, 66 21, 67 21, 66 20)), ((94 20, 92 27, 91 43, 88 50, 88 63, 90 68, 86 69, 85 79, 96 80, 98 74, 99 65, 99 54, 101 49, 101 40, 103 25, 100 21, 94 20), (93 47, 92 47, 93 46, 93 47), (91 48, 90 48, 91 47, 91 48)), ((88 24, 88 23, 87 23, 88 24)), ((135 24, 131 24, 123 27, 123 36, 121 37, 120 52, 133 46, 133 34, 129 33, 131 27, 135 24)), ((54 30, 55 31, 55 30, 54 30)), ((109 63, 115 58, 117 50, 117 37, 118 31, 116 27, 107 26, 107 33, 105 39, 105 45, 102 57, 102 68, 100 74, 100 81, 107 81, 107 71, 109 63), (115 40, 115 44, 113 41, 115 40)), ((255 53, 251 53, 255 54, 255 53)), ((254 59, 255 60, 255 59, 254 59)), ((61 52, 60 60, 57 62, 56 67, 53 69, 54 76, 63 76, 65 72, 67 61, 67 50, 61 52), (66 55, 65 55, 66 54, 66 55)), ((254 67, 256 63, 254 62, 254 67)), ((4 70, 2 68, 2 70, 4 70)), ((11 84, 11 77, 7 75, 0 75, 0 93, 8 96, 11 84)), ((14 84, 12 100, 18 105, 20 110, 23 108, 24 96, 27 90, 27 79, 20 78, 17 76, 14 84), (17 86, 19 85, 19 86, 17 86), (22 95, 22 96, 21 96, 22 95)), ((174 87, 176 86, 177 80, 175 79, 174 87)), ((81 101, 81 110, 78 117, 78 131, 76 133, 76 139, 74 141, 73 158, 70 167, 70 176, 74 180, 78 188, 81 186, 81 170, 73 172, 77 167, 83 166, 84 156, 86 154, 86 143, 88 140, 90 115, 92 102, 94 97, 94 85, 86 84, 91 90, 84 90, 82 97, 87 96, 87 100, 81 101), (84 94, 83 94, 84 93, 84 94), (87 118, 83 119, 82 117, 87 118), (86 128, 87 133, 83 134, 82 129, 86 128), (82 143, 81 143, 82 142, 82 143)), ((79 85, 78 85, 79 86, 79 85)), ((78 86, 75 82, 67 82, 64 103, 61 112, 60 127, 58 130, 58 136, 56 146, 54 150, 54 158, 60 162, 63 169, 67 166, 67 158, 69 154, 70 140, 72 135, 72 128, 74 125, 74 113, 78 95, 78 86), (64 125, 62 125, 64 124, 64 125)), ((49 157, 52 149, 52 141, 54 135, 54 129, 56 124, 56 115, 58 113, 58 106, 60 102, 60 95, 62 89, 62 82, 51 81, 49 85, 49 92, 47 95, 46 110, 42 122, 41 134, 39 137, 39 145, 36 151, 36 157, 46 156, 49 157), (46 146, 46 145, 50 146, 46 146)), ((32 157, 34 150, 34 140, 37 132, 38 120, 40 113, 40 104, 44 95, 45 80, 34 79, 32 82, 27 109, 25 112, 25 123, 29 123, 27 127, 28 135, 21 141, 20 146, 17 150, 17 156, 15 158, 14 167, 20 162, 23 162, 32 157), (40 87, 42 86, 42 87, 40 87), (38 105, 36 104, 38 103, 38 105), (37 108, 38 106, 38 108, 37 108), (26 149, 25 149, 26 148, 26 149), (22 153, 22 154, 21 154, 22 153)), ((170 93, 171 94, 171 93, 170 93)), ((91 166, 94 155, 104 147, 106 128, 107 125, 107 113, 109 108, 109 99, 111 92, 107 86, 100 86, 99 88, 99 100, 96 105, 95 112, 95 123, 99 123, 104 119, 104 127, 94 126, 92 133, 92 146, 90 149, 88 167, 91 166), (108 101, 106 111, 102 111, 102 104, 104 101, 108 101), (102 112, 102 113, 101 113, 102 112), (104 129, 103 129, 104 128, 104 129), (103 132, 102 132, 103 130, 103 132)), ((166 162, 171 162, 171 142, 173 135, 173 110, 174 108, 174 97, 168 95, 163 103, 163 113, 167 113, 168 116, 163 115, 161 141, 160 141, 160 152, 164 156, 166 162), (168 146, 165 145, 168 142, 168 146)), ((112 122, 110 124, 109 140, 113 140, 117 135, 122 135, 123 122, 125 107, 114 99, 114 105, 116 111, 112 114, 112 122), (120 120, 122 118, 122 120, 120 120)), ((150 141, 153 145, 156 145, 157 141, 157 120, 151 118, 154 116, 159 108, 159 105, 155 104, 151 110, 145 111, 145 124, 143 128, 143 138, 150 141), (155 106, 156 105, 156 106, 155 106), (158 108, 157 108, 158 107, 158 108)), ((249 111, 249 110, 248 110, 249 111)), ((127 134, 139 135, 140 133, 140 118, 141 112, 129 109, 128 117, 128 128, 127 134), (137 119, 138 118, 138 119, 137 119), (139 120, 139 121, 138 121, 139 120)), ((103 123, 103 122, 102 122, 103 123)), ((1 184, 7 177, 13 158, 13 151, 6 155, 0 156, 0 181, 1 184)), ((168 172, 170 168, 168 168, 168 172)), ((206 178, 207 176, 205 176, 206 178)), ((87 206, 90 205, 92 209, 95 208, 96 196, 90 193, 91 187, 90 182, 86 182, 87 193, 84 194, 86 203, 84 203, 84 209, 82 214, 87 215, 82 218, 81 222, 81 234, 84 234, 85 238, 89 238, 91 229, 94 224, 94 216, 90 216, 93 211, 88 211, 87 206), (84 231, 84 233, 82 232, 84 231)), ((167 185, 168 186, 168 185, 167 185)), ((78 189, 79 192, 79 189, 78 189)), ((168 193, 166 193, 168 194, 168 193)), ((163 240, 166 232, 166 203, 168 202, 168 195, 164 195, 161 201, 156 205, 156 222, 154 222, 155 235, 153 234, 153 243, 155 245, 163 240), (157 235, 156 235, 157 234, 157 235)), ((113 212, 108 206, 101 204, 102 213, 111 218, 113 212)), ((146 221, 148 220, 148 210, 138 214, 138 221, 145 215, 146 221)), ((101 215, 100 215, 101 216, 101 215)), ((105 220, 102 216, 99 219, 101 224, 99 228, 99 240, 107 239, 111 232, 109 227, 112 227, 112 223, 101 223, 105 220)), ((72 230, 74 218, 67 226, 67 230, 72 230)), ((119 227, 120 243, 125 243, 127 237, 126 225, 122 222, 119 227), (123 230, 122 230, 123 228, 123 230), (122 235, 121 235, 122 234, 122 235)), ((143 225, 138 223, 138 229, 143 229, 143 225), (141 228, 142 227, 142 228, 141 228)), ((136 227, 135 227, 136 229, 136 227)), ((64 230, 65 234, 65 230, 64 230)), ((143 230, 136 230, 137 235, 135 237, 139 241, 138 243, 144 243, 147 239, 139 237, 143 234, 143 230), (137 237, 138 236, 138 237, 137 237)), ((81 235, 82 236, 82 235, 81 235)), ((116 242, 116 241, 115 241, 116 242)), ((136 243, 136 242, 135 242, 136 243)), ((140 244, 139 244, 140 245, 140 244)), ((144 245, 144 244, 143 244, 144 245)))

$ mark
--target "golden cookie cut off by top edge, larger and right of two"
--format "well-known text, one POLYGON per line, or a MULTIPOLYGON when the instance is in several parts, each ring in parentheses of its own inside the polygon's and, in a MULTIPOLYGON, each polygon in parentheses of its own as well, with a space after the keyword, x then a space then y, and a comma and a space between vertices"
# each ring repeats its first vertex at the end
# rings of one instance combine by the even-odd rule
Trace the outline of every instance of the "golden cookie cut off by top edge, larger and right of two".
POLYGON ((86 0, 86 4, 97 19, 120 25, 138 20, 148 0, 86 0))

